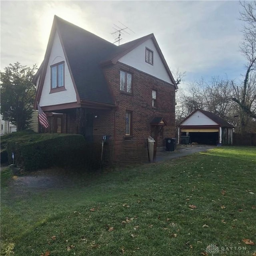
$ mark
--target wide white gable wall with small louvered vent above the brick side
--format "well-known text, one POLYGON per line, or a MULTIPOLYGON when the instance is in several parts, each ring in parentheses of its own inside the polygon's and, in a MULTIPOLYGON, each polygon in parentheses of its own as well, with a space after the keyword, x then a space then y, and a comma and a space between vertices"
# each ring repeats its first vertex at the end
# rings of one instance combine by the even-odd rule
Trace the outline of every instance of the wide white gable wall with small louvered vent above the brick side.
POLYGON ((128 54, 121 57, 118 61, 172 84, 152 39, 148 39, 146 42, 140 44, 138 47, 128 52, 128 54), (153 65, 145 62, 146 47, 154 52, 153 65))

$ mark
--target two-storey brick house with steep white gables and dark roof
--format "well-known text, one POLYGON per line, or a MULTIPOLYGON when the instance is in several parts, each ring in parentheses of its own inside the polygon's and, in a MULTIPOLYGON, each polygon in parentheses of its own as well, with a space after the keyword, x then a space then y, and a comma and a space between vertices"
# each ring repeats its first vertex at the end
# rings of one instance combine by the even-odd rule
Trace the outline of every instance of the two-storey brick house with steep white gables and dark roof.
POLYGON ((153 34, 116 46, 54 16, 34 83, 46 132, 107 135, 114 162, 146 160, 148 136, 174 136, 177 86, 153 34))

